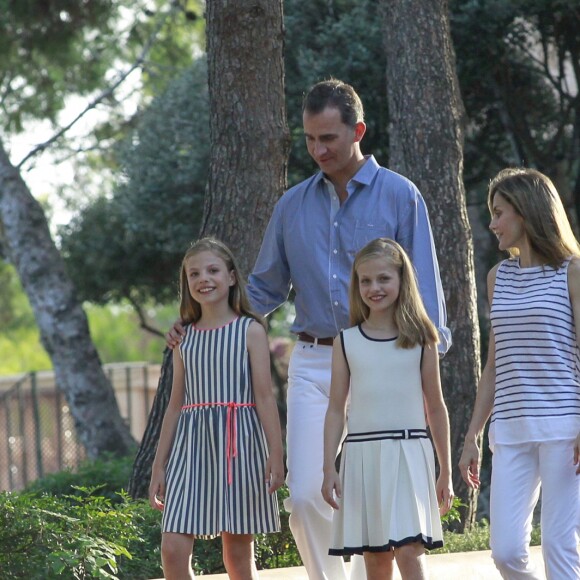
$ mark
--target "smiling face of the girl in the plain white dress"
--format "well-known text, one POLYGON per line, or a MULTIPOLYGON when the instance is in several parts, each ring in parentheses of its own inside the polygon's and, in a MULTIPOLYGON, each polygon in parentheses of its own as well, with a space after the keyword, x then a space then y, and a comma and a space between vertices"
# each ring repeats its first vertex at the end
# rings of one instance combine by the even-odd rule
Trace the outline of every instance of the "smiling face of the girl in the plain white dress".
POLYGON ((386 313, 399 297, 401 277, 399 269, 386 258, 365 260, 357 269, 359 292, 370 314, 386 313))

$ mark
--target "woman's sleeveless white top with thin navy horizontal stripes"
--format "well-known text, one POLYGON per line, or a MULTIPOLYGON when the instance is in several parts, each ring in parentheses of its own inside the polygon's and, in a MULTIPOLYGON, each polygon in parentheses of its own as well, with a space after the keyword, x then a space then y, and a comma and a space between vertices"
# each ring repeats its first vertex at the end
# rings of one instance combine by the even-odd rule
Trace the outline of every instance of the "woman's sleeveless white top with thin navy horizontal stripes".
POLYGON ((566 260, 520 268, 504 260, 491 306, 495 399, 489 430, 495 443, 572 439, 580 430, 580 358, 566 260))

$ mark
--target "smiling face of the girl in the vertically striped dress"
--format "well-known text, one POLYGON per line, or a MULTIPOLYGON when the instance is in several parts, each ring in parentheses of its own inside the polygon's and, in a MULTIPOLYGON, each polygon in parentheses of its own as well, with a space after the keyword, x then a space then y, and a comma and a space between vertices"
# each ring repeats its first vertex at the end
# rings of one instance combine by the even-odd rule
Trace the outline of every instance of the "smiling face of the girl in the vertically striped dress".
POLYGON ((191 297, 201 305, 227 302, 230 287, 236 283, 233 270, 228 270, 224 260, 209 251, 190 256, 185 262, 185 273, 191 297))

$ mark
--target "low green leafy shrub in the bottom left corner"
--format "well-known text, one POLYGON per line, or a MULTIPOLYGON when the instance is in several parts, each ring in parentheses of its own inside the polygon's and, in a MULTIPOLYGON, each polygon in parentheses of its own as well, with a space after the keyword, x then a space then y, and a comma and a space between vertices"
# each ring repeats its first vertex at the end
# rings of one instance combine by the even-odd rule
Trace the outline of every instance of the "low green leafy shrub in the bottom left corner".
POLYGON ((139 541, 139 512, 79 489, 81 497, 0 494, 0 569, 4 577, 117 578, 118 560, 139 541))

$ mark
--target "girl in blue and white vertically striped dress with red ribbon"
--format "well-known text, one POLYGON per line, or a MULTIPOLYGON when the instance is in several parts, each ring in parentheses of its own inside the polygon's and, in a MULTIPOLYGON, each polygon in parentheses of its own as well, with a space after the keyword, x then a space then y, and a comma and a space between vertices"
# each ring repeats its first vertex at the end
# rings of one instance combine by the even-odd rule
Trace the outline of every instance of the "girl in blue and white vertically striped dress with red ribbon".
POLYGON ((167 580, 193 578, 194 538, 221 535, 230 578, 257 578, 253 535, 280 529, 282 439, 266 331, 249 309, 231 251, 203 238, 180 274, 185 337, 149 487, 163 510, 167 580))

